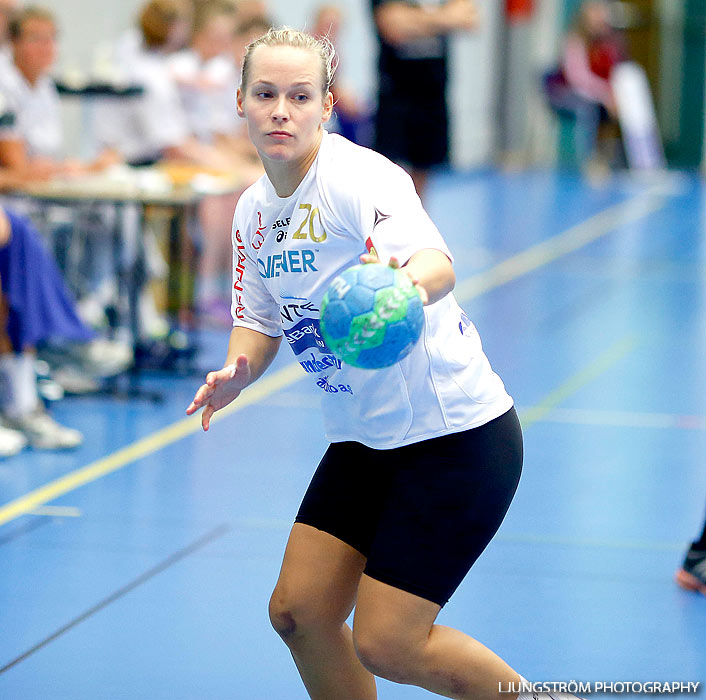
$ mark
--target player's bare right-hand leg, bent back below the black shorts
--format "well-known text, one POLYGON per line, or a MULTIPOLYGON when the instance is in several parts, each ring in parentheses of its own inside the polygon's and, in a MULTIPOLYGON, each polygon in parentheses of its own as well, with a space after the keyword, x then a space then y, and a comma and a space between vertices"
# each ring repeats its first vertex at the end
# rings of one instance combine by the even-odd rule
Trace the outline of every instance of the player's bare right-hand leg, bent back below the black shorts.
POLYGON ((358 589, 354 639, 372 673, 457 700, 512 700, 499 683, 520 676, 475 639, 434 624, 440 607, 369 576, 358 589))

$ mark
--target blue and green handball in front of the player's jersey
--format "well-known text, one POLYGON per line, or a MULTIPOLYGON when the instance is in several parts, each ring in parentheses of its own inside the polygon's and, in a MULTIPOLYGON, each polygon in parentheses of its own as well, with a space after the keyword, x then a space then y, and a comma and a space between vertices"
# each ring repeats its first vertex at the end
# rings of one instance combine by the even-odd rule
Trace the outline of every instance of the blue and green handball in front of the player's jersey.
POLYGON ((321 302, 321 334, 331 352, 361 369, 389 367, 409 354, 424 327, 424 307, 402 270, 354 265, 321 302))

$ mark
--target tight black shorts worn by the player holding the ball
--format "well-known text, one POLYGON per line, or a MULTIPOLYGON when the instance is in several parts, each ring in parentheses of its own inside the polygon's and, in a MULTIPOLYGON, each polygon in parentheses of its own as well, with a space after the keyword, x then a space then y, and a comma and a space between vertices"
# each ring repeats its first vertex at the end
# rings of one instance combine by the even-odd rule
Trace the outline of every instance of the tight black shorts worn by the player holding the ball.
POLYGON ((391 450, 329 446, 296 522, 367 558, 378 581, 444 605, 505 517, 522 470, 515 409, 391 450))

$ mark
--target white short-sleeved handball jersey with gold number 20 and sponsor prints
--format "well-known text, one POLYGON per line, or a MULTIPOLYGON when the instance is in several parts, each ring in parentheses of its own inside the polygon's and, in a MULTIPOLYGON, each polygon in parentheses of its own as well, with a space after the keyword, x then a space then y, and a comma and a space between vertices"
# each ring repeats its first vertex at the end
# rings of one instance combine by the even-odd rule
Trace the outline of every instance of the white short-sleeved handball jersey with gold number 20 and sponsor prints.
POLYGON ((478 427, 512 406, 453 294, 424 308, 420 342, 380 370, 342 364, 319 332, 333 278, 375 249, 404 264, 419 250, 451 254, 409 176, 324 132, 296 191, 278 197, 267 176, 240 197, 233 223, 235 326, 284 334, 322 395, 326 436, 392 448, 478 427))

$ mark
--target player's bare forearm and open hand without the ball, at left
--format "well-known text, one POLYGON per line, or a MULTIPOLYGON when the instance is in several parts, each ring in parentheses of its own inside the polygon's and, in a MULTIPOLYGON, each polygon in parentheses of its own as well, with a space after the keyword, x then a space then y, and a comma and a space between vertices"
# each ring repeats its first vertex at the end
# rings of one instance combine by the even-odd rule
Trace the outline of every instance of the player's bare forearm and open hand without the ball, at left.
POLYGON ((192 415, 203 408, 201 426, 208 430, 211 416, 240 396, 246 386, 262 376, 274 360, 282 337, 272 338, 249 328, 231 331, 225 367, 209 372, 186 409, 192 415))

